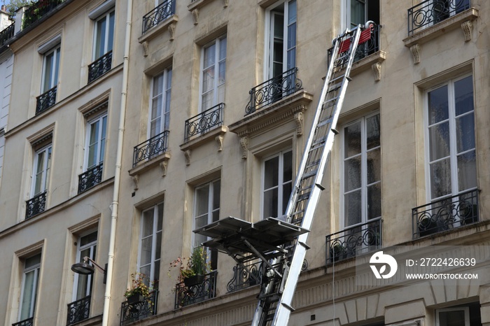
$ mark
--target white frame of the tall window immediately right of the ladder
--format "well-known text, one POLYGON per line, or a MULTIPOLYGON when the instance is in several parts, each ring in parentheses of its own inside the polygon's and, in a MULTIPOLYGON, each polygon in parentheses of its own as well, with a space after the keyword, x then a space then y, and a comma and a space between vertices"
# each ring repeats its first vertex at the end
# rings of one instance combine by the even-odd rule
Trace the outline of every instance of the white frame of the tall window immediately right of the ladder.
MULTIPOLYGON (((367 212, 368 212, 368 207, 367 207, 367 187, 370 187, 372 185, 379 184, 381 187, 381 174, 380 174, 380 180, 374 181, 372 183, 367 183, 367 153, 372 152, 374 150, 381 150, 381 113, 379 111, 376 111, 374 113, 370 113, 368 115, 364 115, 361 118, 358 118, 356 120, 353 120, 349 123, 346 123, 345 125, 342 126, 341 129, 341 157, 342 157, 342 163, 341 163, 341 169, 340 169, 340 215, 342 218, 340 219, 340 228, 341 229, 346 229, 346 228, 351 228, 351 227, 356 227, 356 225, 363 225, 364 223, 367 222, 374 222, 375 220, 379 220, 382 216, 382 211, 381 215, 375 218, 371 218, 370 220, 367 219, 367 212), (367 150, 367 134, 366 134, 366 121, 369 118, 372 118, 376 115, 379 115, 379 146, 376 146, 374 148, 370 148, 370 150, 367 150), (360 153, 358 155, 353 155, 351 157, 346 158, 345 155, 345 128, 349 127, 350 125, 355 125, 356 123, 360 123, 360 141, 361 141, 361 149, 360 153), (351 159, 352 157, 355 156, 360 156, 360 209, 361 209, 361 216, 360 216, 360 222, 353 224, 353 225, 346 225, 346 212, 344 210, 344 204, 345 204, 345 195, 348 192, 353 192, 353 191, 358 191, 359 188, 356 188, 356 190, 349 190, 348 192, 345 189, 346 185, 346 180, 345 180, 345 162, 348 159, 351 159)), ((381 155, 381 153, 380 153, 381 155)), ((381 157, 380 157, 381 160, 381 157)), ((381 162, 380 162, 381 165, 381 162)), ((381 166, 380 166, 381 170, 381 166)), ((381 173, 381 171, 380 171, 381 173)), ((381 200, 382 200, 383 194, 381 193, 381 200)))

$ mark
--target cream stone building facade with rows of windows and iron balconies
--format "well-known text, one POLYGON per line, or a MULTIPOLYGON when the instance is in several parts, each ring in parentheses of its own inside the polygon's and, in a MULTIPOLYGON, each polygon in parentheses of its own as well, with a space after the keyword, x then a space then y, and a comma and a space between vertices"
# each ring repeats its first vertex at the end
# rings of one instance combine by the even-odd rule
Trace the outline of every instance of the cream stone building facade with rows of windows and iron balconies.
POLYGON ((250 325, 260 262, 205 250, 204 278, 186 285, 180 261, 211 222, 287 218, 332 39, 372 21, 289 325, 490 325, 488 13, 484 0, 21 8, 0 48, 0 69, 13 62, 0 75, 0 320, 250 325), (359 281, 379 250, 446 246, 469 250, 458 273, 477 281, 359 281), (73 272, 84 257, 104 272, 73 272), (129 302, 141 274, 151 294, 129 302))

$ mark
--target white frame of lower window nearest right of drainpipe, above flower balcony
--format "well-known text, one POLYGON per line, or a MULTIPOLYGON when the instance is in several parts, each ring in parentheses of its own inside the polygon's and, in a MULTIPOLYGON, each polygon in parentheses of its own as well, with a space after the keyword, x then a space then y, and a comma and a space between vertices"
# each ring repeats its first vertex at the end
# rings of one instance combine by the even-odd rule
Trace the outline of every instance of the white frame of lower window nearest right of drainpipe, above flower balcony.
POLYGON ((157 281, 154 283, 152 288, 158 287, 158 281, 160 280, 160 275, 155 275, 155 263, 158 262, 160 265, 159 273, 162 271, 162 263, 161 263, 161 252, 162 252, 162 238, 163 238, 163 213, 164 213, 164 204, 163 201, 159 202, 151 206, 150 208, 146 208, 144 211, 141 211, 141 224, 140 224, 140 232, 139 232, 139 247, 138 247, 138 271, 141 272, 142 267, 150 266, 150 274, 146 274, 146 279, 144 280, 146 285, 150 286, 151 282, 157 281), (153 225, 152 232, 147 236, 143 235, 144 230, 144 213, 153 210, 153 225), (161 210, 161 211, 160 211, 161 210), (161 219, 161 221, 160 221, 161 219), (158 229, 158 224, 160 222, 161 229, 158 229), (160 240, 158 240, 158 235, 160 234, 160 240), (151 258, 150 263, 141 266, 141 250, 143 248, 143 241, 145 239, 151 238, 151 258), (160 242, 160 243, 159 243, 160 242), (160 250, 158 250, 160 249, 160 250), (160 251, 160 256, 157 257, 157 251, 160 251))

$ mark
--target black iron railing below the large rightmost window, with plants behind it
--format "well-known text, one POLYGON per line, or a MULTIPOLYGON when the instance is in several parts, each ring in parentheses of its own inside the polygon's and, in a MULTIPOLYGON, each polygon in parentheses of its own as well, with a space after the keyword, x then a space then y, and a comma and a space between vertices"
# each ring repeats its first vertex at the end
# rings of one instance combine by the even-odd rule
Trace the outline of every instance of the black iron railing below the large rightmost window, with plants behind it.
POLYGON ((412 208, 414 239, 479 220, 479 190, 471 190, 412 208))

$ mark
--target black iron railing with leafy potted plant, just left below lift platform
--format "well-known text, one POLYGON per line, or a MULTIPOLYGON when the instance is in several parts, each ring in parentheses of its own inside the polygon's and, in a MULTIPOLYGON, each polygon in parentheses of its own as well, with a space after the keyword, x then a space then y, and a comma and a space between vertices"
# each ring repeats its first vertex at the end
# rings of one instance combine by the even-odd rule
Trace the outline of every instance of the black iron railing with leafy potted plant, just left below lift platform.
POLYGON ((211 271, 204 276, 204 281, 197 285, 187 287, 184 283, 176 284, 175 309, 214 298, 216 296, 216 276, 218 276, 218 271, 211 271))

